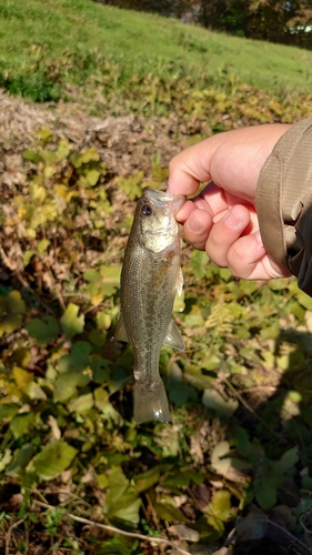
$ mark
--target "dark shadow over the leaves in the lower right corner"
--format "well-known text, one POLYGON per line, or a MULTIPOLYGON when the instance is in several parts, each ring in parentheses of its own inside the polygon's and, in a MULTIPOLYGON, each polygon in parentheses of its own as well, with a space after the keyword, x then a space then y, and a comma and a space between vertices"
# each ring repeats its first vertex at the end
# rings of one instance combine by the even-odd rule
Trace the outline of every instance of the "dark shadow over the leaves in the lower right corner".
MULTIPOLYGON (((254 413, 250 417, 250 413, 243 411, 242 425, 249 430, 251 441, 260 438, 268 461, 279 461, 281 454, 296 447, 298 462, 285 473, 283 484, 276 487, 276 504, 265 512, 269 525, 263 536, 256 541, 239 541, 234 555, 312 553, 312 335, 294 329, 281 331, 275 340, 274 357, 276 367, 279 363, 282 366, 280 381, 274 387, 268 386, 273 393, 264 401, 256 402, 254 392, 249 397, 245 390, 244 398, 254 413), (296 525, 290 526, 291 533, 288 532, 290 523, 283 522, 284 509, 279 514, 279 506, 296 516, 296 525)), ((265 462, 259 460, 255 476, 266 472, 269 482, 270 471, 272 474, 275 471, 270 462, 265 468, 265 462)), ((255 513, 250 507, 248 511, 256 519, 258 508, 255 513)))

